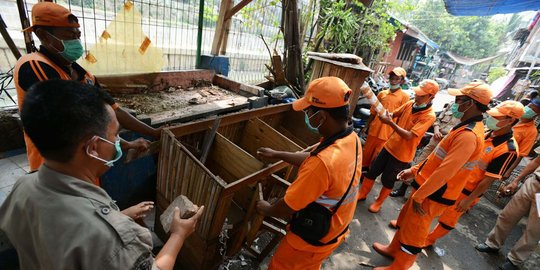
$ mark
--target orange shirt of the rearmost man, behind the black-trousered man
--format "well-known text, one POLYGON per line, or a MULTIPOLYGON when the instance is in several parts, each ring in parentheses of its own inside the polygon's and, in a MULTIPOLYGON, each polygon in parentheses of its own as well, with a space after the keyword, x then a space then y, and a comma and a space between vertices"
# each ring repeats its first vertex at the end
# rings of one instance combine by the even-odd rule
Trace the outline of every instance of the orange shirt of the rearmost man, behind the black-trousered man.
MULTIPOLYGON (((379 99, 379 102, 381 102, 381 105, 383 105, 384 108, 386 108, 389 112, 392 112, 401 105, 407 103, 410 98, 409 95, 403 92, 400 88, 393 93, 389 89, 381 91, 377 95, 377 99, 379 99)), ((371 106, 371 114, 376 114, 373 106, 371 106)), ((378 117, 373 118, 369 124, 369 136, 374 136, 381 140, 388 140, 392 132, 394 132, 392 127, 383 124, 378 117)))

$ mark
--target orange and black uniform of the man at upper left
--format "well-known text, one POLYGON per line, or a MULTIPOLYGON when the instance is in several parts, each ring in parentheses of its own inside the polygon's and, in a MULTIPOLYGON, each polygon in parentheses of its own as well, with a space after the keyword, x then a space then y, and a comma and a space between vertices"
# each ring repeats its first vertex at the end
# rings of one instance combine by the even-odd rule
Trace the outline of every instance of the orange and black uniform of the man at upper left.
MULTIPOLYGON (((69 75, 69 70, 54 62, 50 55, 51 54, 45 48, 41 47, 39 52, 24 55, 17 61, 13 77, 15 89, 17 90, 17 103, 19 106, 19 111, 24 104, 26 91, 35 83, 51 79, 72 80, 71 76, 69 75)), ((96 78, 92 74, 88 73, 79 64, 73 62, 71 67, 79 76, 77 81, 84 84, 99 86, 96 78)), ((113 109, 118 108, 118 105, 112 98, 106 100, 106 102, 110 104, 113 109)), ((45 160, 26 133, 24 133, 24 142, 26 144, 26 155, 28 156, 30 171, 36 171, 45 160)))

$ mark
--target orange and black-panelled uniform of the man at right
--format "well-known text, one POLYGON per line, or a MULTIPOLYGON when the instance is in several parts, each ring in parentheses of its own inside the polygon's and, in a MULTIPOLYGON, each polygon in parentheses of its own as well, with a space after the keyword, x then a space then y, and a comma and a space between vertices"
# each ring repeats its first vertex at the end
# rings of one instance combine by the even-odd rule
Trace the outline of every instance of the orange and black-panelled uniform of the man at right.
MULTIPOLYGON (((468 198, 486 176, 501 179, 517 160, 517 156, 518 147, 512 136, 512 132, 497 137, 491 137, 491 132, 488 133, 484 141, 482 156, 465 184, 465 188, 461 191, 456 205, 468 198)), ((476 205, 478 201, 480 201, 480 196, 474 199, 469 209, 476 205)), ((439 217, 439 224, 429 234, 426 246, 433 245, 437 239, 446 235, 450 230, 453 230, 459 218, 464 213, 458 212, 455 207, 446 208, 444 213, 439 217)))

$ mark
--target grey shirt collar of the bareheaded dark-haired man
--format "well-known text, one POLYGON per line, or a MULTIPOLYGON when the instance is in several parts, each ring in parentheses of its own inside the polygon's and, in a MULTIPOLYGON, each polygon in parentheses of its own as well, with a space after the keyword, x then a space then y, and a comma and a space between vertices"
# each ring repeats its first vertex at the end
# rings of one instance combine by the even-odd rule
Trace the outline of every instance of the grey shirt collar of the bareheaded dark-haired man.
POLYGON ((37 173, 38 181, 48 188, 64 194, 84 197, 103 204, 112 205, 113 200, 107 192, 94 184, 59 173, 46 165, 42 165, 37 173))

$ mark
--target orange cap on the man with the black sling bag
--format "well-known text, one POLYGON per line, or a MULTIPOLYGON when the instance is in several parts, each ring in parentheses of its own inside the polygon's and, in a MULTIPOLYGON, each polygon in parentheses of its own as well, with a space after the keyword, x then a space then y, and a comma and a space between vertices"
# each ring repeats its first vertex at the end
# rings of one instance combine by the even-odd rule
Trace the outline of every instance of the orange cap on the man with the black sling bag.
POLYGON ((313 80, 304 97, 293 102, 295 111, 309 106, 318 108, 338 108, 349 104, 352 90, 338 77, 321 77, 313 80))

